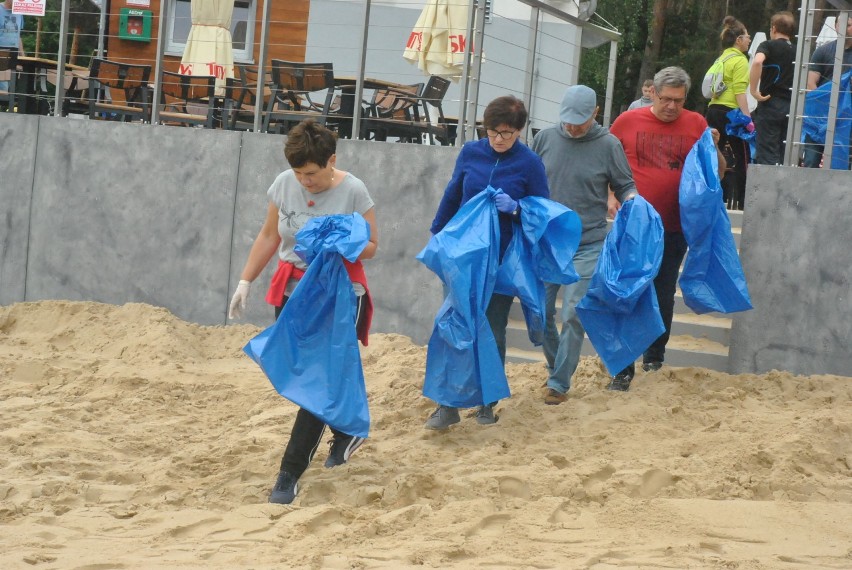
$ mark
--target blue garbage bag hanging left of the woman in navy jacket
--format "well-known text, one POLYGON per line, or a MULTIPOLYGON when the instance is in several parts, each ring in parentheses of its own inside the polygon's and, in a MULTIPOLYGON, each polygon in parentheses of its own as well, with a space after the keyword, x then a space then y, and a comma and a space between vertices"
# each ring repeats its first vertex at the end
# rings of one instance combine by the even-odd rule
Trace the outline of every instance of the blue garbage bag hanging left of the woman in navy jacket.
POLYGON ((470 408, 509 397, 509 382, 485 310, 494 292, 500 227, 490 186, 471 198, 417 255, 449 294, 435 317, 423 395, 470 408))

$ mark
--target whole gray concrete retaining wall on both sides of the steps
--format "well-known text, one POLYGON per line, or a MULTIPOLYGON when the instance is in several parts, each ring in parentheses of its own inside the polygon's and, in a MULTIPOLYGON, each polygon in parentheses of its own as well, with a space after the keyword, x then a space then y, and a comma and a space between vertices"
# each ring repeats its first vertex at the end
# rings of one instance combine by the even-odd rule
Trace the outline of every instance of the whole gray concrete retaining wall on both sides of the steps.
MULTIPOLYGON (((414 256, 457 152, 339 144, 338 165, 377 204, 376 332, 428 340, 440 283, 414 256)), ((0 304, 139 301, 227 323, 266 189, 286 167, 277 135, 0 113, 0 304)), ((750 168, 741 257, 755 309, 734 315, 733 372, 849 375, 850 183, 849 172, 750 168)), ((247 312, 260 326, 272 322, 271 265, 247 312)))

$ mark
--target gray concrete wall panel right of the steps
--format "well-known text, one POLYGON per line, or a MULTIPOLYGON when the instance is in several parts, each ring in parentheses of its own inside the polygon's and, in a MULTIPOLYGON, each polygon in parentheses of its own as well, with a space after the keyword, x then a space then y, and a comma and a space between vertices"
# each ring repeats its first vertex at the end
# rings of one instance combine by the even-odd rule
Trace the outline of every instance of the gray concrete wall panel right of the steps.
POLYGON ((754 309, 731 331, 734 373, 852 370, 852 173, 752 165, 741 259, 754 309))

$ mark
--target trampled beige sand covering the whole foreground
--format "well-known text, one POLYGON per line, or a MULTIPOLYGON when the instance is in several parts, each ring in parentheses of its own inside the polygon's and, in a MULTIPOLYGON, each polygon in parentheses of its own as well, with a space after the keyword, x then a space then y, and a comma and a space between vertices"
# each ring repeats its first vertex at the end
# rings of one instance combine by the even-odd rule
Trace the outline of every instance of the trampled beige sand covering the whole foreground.
POLYGON ((852 568, 852 378, 698 368, 423 429, 425 348, 362 349, 373 417, 266 502, 295 406, 242 346, 143 304, 0 307, 0 567, 852 568))

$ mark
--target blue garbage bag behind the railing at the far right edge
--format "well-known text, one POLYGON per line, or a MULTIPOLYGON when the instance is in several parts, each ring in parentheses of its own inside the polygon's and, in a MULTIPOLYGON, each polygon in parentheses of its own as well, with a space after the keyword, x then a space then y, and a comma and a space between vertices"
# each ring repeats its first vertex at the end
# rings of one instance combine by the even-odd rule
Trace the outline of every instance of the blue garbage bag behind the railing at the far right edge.
MULTIPOLYGON (((828 128, 828 105, 831 99, 829 81, 805 96, 805 116, 802 119, 802 142, 805 135, 811 140, 825 144, 828 128)), ((831 148, 831 168, 849 170, 849 136, 852 131, 852 71, 840 76, 840 92, 837 99, 837 120, 834 125, 834 145, 831 148)))

